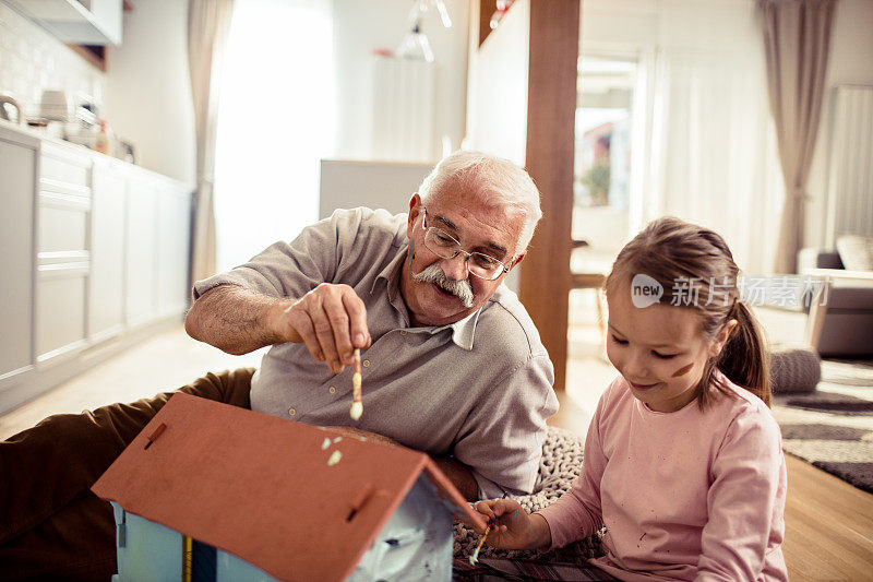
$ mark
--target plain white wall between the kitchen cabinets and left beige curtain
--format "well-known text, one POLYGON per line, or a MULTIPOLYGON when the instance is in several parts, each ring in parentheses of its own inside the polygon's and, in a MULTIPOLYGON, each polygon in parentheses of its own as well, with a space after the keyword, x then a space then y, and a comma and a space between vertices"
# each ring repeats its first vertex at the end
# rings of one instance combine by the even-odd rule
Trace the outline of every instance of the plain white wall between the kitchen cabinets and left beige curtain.
POLYGON ((124 13, 109 52, 104 117, 136 147, 136 163, 193 187, 194 109, 188 76, 188 2, 147 0, 124 13))

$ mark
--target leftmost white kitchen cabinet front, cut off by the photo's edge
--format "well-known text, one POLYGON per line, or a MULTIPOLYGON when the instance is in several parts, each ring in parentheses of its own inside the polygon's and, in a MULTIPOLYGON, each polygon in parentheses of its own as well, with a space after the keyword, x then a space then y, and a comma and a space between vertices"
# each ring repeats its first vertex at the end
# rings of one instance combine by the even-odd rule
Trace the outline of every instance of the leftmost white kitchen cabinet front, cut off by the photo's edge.
POLYGON ((0 131, 0 392, 33 370, 37 144, 0 131))

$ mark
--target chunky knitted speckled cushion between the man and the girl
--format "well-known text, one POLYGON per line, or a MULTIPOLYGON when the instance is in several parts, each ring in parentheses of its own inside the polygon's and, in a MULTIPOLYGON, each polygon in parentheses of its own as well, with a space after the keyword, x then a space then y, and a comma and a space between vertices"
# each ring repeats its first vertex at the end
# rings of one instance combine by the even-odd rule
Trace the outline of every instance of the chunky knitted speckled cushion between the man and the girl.
MULTIPOLYGON (((570 489, 573 480, 578 477, 582 470, 584 448, 583 439, 576 436, 575 432, 563 428, 549 427, 546 441, 542 443, 539 474, 537 475, 537 482, 534 484, 535 492, 515 498, 525 511, 528 513, 538 511, 551 504, 552 501, 555 501, 564 491, 570 489)), ((455 523, 454 557, 467 559, 473 555, 480 537, 471 527, 455 523)), ((602 555, 600 538, 597 535, 546 554, 549 559, 554 561, 570 562, 582 562, 602 555)), ((537 550, 494 549, 488 544, 482 546, 479 556, 492 558, 543 558, 543 554, 537 550)))

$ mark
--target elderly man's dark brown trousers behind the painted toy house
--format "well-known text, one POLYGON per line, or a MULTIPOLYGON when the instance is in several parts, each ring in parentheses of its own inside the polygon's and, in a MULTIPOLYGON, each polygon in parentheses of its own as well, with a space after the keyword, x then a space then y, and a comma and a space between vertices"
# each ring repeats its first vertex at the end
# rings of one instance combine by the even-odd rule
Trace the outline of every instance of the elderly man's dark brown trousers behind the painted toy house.
MULTIPOLYGON (((249 408, 252 373, 211 372, 178 391, 249 408)), ((0 442, 0 580, 118 571, 112 508, 91 486, 172 394, 49 416, 0 442)))

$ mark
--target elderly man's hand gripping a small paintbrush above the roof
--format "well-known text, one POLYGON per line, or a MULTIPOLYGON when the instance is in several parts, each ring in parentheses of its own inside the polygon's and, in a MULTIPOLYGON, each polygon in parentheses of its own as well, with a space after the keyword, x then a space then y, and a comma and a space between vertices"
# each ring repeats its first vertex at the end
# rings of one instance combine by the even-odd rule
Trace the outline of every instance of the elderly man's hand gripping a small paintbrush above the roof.
POLYGON ((307 344, 319 361, 326 361, 334 373, 350 366, 352 351, 370 345, 367 309, 348 285, 322 283, 290 306, 277 304, 267 326, 286 342, 307 344))

